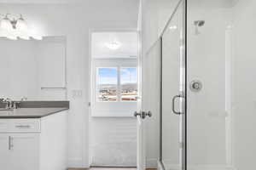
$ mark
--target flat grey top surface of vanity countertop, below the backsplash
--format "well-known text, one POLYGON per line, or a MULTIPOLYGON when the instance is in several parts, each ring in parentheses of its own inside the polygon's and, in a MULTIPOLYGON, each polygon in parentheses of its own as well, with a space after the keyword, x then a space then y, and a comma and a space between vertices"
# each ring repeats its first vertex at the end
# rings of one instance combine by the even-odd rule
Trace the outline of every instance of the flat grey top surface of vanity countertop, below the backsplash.
POLYGON ((0 111, 0 118, 41 118, 67 110, 68 108, 64 107, 19 108, 14 111, 0 111))

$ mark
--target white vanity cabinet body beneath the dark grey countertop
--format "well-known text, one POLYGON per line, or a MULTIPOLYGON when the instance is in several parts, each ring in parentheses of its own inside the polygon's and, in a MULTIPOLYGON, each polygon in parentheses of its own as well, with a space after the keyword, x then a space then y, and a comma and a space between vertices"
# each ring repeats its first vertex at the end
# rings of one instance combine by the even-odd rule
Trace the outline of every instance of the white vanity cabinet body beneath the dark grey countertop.
POLYGON ((0 119, 0 169, 66 170, 66 111, 42 118, 0 119))

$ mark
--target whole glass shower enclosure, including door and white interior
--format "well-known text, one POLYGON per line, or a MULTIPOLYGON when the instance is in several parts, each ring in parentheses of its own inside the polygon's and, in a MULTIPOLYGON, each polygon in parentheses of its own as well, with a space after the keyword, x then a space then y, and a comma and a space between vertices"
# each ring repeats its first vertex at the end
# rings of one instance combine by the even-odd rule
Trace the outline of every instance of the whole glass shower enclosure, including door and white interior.
POLYGON ((181 0, 161 42, 160 164, 252 170, 256 1, 181 0))

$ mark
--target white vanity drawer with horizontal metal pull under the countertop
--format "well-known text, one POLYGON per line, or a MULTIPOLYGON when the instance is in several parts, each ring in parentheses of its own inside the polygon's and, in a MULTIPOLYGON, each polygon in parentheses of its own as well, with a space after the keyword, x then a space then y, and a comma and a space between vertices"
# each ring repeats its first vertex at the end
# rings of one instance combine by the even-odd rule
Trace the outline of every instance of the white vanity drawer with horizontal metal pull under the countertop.
POLYGON ((40 119, 0 120, 0 133, 39 133, 40 119))

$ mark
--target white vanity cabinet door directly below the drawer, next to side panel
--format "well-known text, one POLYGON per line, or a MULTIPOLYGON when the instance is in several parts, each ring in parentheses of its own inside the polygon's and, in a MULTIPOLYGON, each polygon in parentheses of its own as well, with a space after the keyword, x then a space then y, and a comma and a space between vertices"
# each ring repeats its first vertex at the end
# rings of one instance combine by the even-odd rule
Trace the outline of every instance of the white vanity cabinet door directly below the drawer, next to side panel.
POLYGON ((15 133, 10 135, 9 170, 39 169, 39 134, 15 133))

